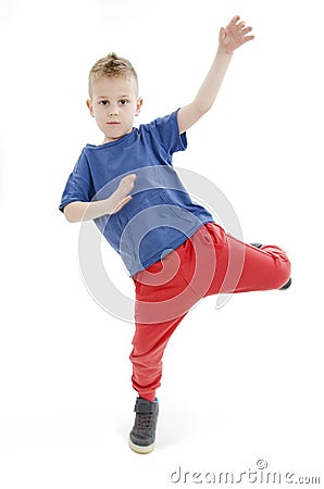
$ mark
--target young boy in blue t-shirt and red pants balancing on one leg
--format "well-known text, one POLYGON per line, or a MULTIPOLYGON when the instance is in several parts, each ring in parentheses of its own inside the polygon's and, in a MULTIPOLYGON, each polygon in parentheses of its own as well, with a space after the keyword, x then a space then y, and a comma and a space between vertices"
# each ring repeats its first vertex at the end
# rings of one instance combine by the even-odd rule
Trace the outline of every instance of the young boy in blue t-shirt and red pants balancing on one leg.
POLYGON ((134 279, 130 361, 138 398, 129 446, 138 453, 153 450, 163 352, 190 308, 210 294, 290 284, 283 250, 226 235, 191 201, 172 166, 172 154, 186 149, 187 129, 213 105, 234 51, 253 39, 251 30, 239 16, 221 28, 215 59, 192 102, 139 128, 133 123, 142 100, 129 61, 111 53, 89 74, 87 105, 104 139, 84 148, 60 210, 71 223, 94 220, 134 279))

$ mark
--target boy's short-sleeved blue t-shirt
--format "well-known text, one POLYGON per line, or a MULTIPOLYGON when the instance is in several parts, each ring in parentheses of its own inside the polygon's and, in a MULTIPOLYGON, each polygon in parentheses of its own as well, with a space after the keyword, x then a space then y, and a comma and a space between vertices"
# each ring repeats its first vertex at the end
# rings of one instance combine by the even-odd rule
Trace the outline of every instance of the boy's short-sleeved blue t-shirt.
POLYGON ((59 209, 63 211, 74 201, 105 199, 122 177, 136 174, 133 199, 116 214, 95 220, 133 276, 213 221, 203 206, 191 201, 172 166, 172 154, 186 148, 177 111, 133 128, 115 141, 87 145, 68 177, 59 209))

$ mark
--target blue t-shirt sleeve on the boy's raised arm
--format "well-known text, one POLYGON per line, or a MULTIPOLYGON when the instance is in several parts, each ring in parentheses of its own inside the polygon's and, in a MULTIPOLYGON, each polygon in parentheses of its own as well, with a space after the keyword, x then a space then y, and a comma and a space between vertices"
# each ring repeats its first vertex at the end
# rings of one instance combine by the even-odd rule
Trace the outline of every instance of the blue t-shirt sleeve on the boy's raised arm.
POLYGON ((186 133, 179 134, 177 113, 179 109, 170 115, 155 118, 149 126, 154 136, 160 140, 167 154, 187 149, 186 133))

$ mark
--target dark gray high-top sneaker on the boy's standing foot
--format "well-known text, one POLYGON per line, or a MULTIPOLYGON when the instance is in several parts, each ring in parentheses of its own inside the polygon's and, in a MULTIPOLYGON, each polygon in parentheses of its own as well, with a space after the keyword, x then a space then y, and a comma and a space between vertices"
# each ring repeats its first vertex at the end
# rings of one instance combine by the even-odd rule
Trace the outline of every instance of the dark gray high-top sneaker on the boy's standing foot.
POLYGON ((136 453, 150 453, 154 449, 159 402, 136 399, 135 424, 129 434, 129 447, 136 453))

